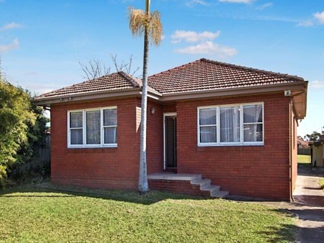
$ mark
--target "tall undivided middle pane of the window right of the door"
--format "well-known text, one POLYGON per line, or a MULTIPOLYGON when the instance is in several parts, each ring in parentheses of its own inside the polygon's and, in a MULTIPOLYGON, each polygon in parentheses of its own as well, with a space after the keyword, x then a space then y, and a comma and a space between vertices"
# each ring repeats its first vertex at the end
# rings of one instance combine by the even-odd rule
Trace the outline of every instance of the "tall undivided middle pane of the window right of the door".
POLYGON ((240 108, 239 107, 220 108, 220 141, 221 142, 240 141, 240 108))

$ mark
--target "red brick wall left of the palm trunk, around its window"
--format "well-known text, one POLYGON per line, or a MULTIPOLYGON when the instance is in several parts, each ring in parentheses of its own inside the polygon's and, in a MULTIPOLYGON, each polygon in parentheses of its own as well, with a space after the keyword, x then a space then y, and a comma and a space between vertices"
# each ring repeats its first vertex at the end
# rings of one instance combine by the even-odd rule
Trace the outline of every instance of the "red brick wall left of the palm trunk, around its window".
POLYGON ((137 188, 136 98, 51 106, 51 179, 89 187, 137 188), (67 111, 117 106, 117 148, 67 148, 67 111))

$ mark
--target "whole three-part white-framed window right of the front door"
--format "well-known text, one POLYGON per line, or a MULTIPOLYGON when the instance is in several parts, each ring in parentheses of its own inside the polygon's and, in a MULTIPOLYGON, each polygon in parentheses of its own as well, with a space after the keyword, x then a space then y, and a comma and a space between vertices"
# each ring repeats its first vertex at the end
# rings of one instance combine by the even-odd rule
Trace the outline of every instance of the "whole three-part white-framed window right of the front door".
POLYGON ((263 103, 198 107, 198 146, 263 145, 263 103))

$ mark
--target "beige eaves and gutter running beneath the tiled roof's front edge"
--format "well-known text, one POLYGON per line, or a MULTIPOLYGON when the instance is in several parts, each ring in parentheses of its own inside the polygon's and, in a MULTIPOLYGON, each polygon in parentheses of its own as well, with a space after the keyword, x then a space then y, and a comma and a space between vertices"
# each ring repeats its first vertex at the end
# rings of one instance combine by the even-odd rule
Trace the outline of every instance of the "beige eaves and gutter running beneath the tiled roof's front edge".
MULTIPOLYGON (((180 100, 191 99, 205 99, 212 97, 225 97, 225 96, 244 96, 244 95, 256 95, 265 93, 278 93, 285 90, 291 91, 291 98, 294 105, 294 112, 296 119, 304 119, 307 109, 307 81, 273 84, 273 85, 260 85, 249 86, 240 88, 227 88, 217 90, 205 90, 205 91, 189 91, 189 92, 177 92, 170 94, 161 94, 155 90, 148 89, 148 97, 160 102, 172 102, 180 100)), ((63 103, 63 102, 76 102, 98 99, 114 99, 123 98, 129 96, 141 96, 141 88, 125 89, 125 90, 112 90, 112 91, 97 91, 83 94, 72 94, 57 97, 44 97, 33 102, 39 106, 50 107, 51 104, 63 103)))

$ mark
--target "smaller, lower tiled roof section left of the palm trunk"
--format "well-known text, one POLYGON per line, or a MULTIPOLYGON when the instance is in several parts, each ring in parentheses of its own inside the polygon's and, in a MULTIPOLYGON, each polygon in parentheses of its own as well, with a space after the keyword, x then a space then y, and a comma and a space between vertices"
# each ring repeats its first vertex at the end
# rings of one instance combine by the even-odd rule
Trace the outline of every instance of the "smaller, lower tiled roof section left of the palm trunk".
POLYGON ((91 93, 96 91, 112 91, 140 88, 142 80, 134 78, 124 72, 112 73, 96 80, 89 80, 72 86, 64 87, 41 96, 35 100, 49 97, 61 97, 75 94, 91 93))

